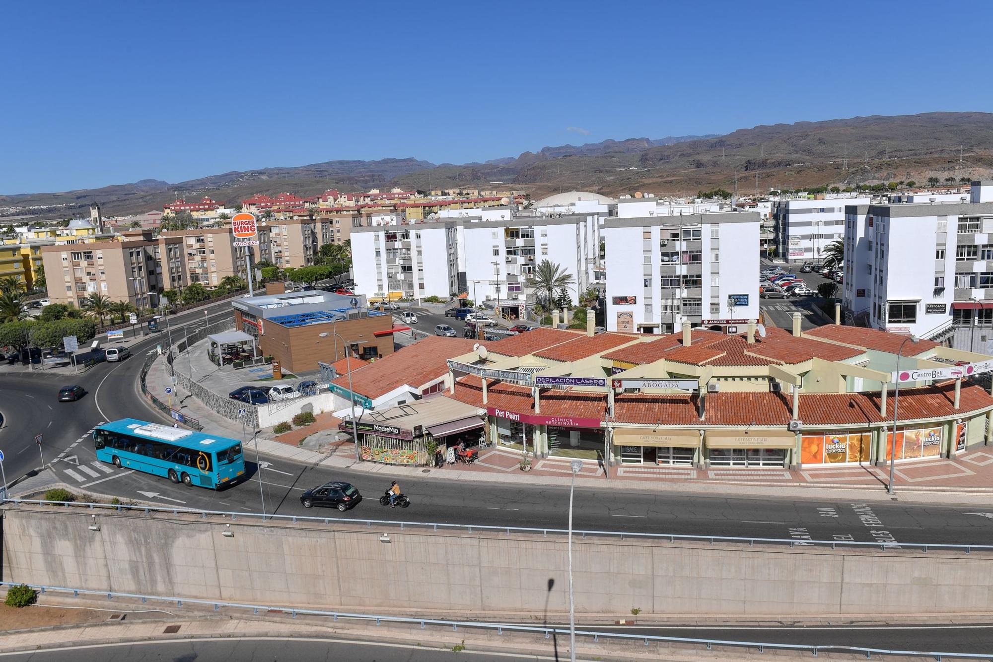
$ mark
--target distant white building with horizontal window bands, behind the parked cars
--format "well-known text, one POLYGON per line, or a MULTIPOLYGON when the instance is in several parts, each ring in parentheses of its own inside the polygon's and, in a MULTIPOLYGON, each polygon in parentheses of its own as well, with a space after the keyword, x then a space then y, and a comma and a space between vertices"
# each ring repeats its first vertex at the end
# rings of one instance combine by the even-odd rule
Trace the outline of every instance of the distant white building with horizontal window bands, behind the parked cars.
POLYGON ((871 201, 868 197, 848 194, 774 201, 772 215, 778 255, 787 263, 820 262, 828 244, 845 236, 845 205, 871 201))

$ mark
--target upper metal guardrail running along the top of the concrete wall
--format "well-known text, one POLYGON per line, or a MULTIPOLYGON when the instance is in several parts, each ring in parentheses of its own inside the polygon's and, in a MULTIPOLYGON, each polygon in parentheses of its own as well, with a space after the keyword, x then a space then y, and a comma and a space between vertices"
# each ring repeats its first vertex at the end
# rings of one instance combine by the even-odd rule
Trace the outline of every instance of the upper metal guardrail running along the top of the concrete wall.
MULTIPOLYGON (((542 527, 523 527, 523 526, 495 526, 491 524, 449 524, 446 522, 404 522, 402 520, 390 520, 390 519, 353 519, 348 517, 315 517, 312 515, 274 515, 274 514, 263 514, 256 512, 229 512, 224 510, 198 510, 196 508, 174 508, 172 506, 144 506, 144 505, 126 505, 126 504, 109 504, 109 503, 88 503, 80 501, 45 501, 41 499, 3 499, 0 503, 14 503, 14 504, 33 504, 33 505, 53 505, 62 506, 66 508, 86 508, 88 510, 116 510, 118 512, 124 512, 125 510, 137 510, 144 514, 149 514, 152 512, 166 512, 172 513, 173 515, 199 515, 201 518, 206 518, 209 515, 230 517, 231 521, 236 521, 239 517, 245 519, 260 519, 260 520, 281 520, 290 522, 323 522, 324 524, 331 524, 332 522, 336 524, 364 524, 367 528, 375 526, 396 526, 400 529, 406 528, 421 528, 421 529, 431 529, 433 531, 466 531, 467 533, 472 533, 473 531, 493 531, 502 533, 530 533, 530 534, 541 534, 543 536, 548 535, 567 535, 568 530, 566 529, 552 529, 552 528, 542 528, 542 527)), ((711 545, 716 543, 736 543, 736 544, 747 544, 749 546, 760 544, 760 545, 788 545, 790 548, 794 547, 816 547, 816 546, 826 546, 831 549, 841 548, 878 548, 885 550, 897 550, 897 549, 920 549, 923 552, 929 550, 945 551, 945 552, 965 552, 970 554, 973 551, 978 552, 990 552, 993 553, 993 545, 969 545, 962 543, 887 543, 887 542, 862 542, 857 540, 794 540, 792 538, 747 538, 741 536, 707 536, 707 535, 693 535, 684 533, 639 533, 631 531, 594 531, 594 530, 584 530, 584 529, 573 529, 574 536, 580 536, 581 538, 623 538, 629 540, 664 540, 667 542, 676 541, 686 541, 686 542, 709 542, 711 545)))

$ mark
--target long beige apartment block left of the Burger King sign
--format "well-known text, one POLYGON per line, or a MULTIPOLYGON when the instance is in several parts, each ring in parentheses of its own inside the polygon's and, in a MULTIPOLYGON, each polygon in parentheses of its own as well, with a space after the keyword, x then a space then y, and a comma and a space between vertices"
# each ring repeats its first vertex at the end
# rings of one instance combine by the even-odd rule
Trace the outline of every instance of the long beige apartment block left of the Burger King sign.
MULTIPOLYGON (((226 228, 122 232, 115 241, 42 248, 53 303, 80 307, 90 294, 129 301, 135 308, 156 308, 163 290, 191 283, 208 289, 225 276, 245 278, 245 249, 233 245, 226 228)), ((259 226, 252 263, 271 258, 268 228, 259 226)))

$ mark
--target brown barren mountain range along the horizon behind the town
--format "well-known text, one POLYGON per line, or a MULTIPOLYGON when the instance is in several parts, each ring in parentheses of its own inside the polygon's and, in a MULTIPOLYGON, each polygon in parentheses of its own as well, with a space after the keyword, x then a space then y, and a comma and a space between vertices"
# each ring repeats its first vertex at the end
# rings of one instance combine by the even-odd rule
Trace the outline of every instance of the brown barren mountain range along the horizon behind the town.
POLYGON ((617 196, 636 191, 693 195, 736 187, 770 189, 854 186, 928 177, 988 179, 993 173, 993 114, 930 112, 760 125, 726 135, 605 140, 545 147, 485 163, 433 164, 414 158, 327 161, 261 168, 169 184, 142 180, 62 193, 0 195, 0 207, 63 205, 39 217, 107 215, 162 208, 175 196, 234 203, 252 194, 313 196, 327 189, 512 188, 533 197, 574 189, 617 196), (490 183, 500 182, 494 187, 490 183))

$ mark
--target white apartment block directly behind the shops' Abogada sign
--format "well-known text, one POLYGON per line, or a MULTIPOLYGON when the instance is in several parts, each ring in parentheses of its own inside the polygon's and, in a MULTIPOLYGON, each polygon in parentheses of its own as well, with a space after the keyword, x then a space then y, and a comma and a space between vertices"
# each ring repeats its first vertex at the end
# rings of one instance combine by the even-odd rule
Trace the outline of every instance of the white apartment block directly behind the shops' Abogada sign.
POLYGON ((759 225, 755 211, 609 218, 607 331, 672 332, 688 320, 735 332, 758 319, 759 225))

